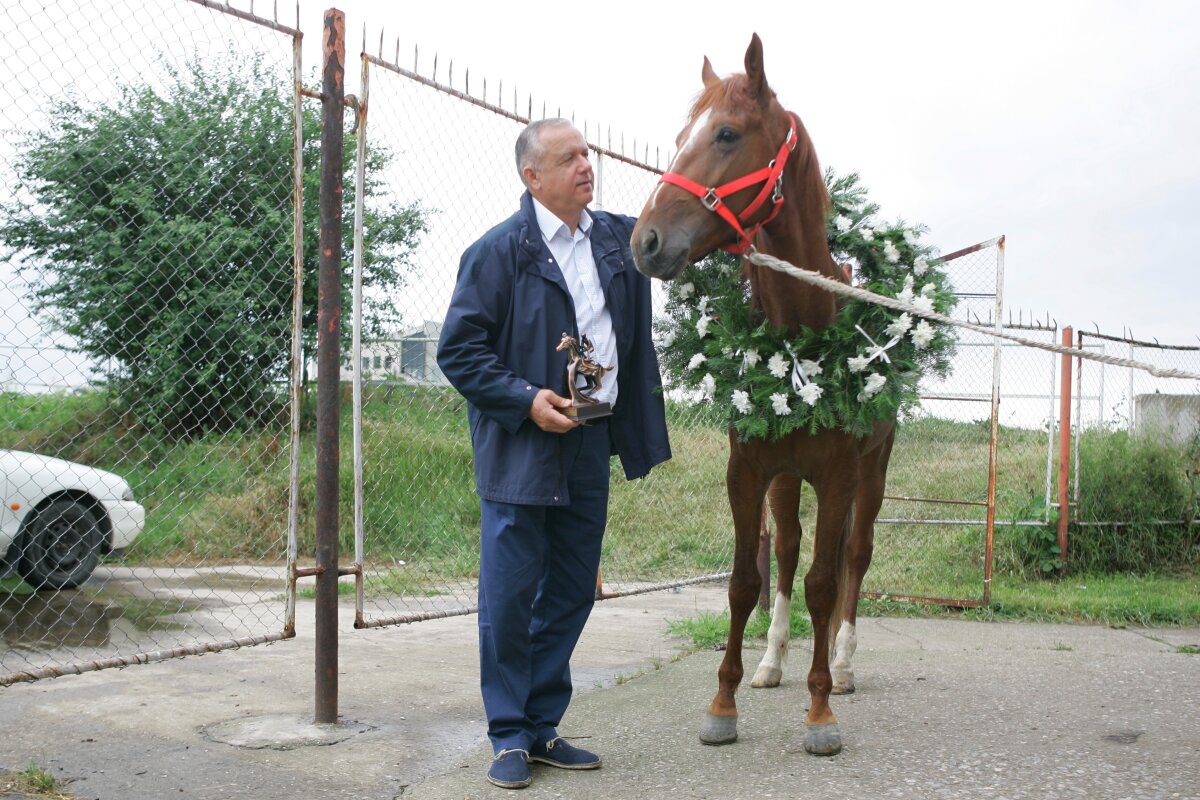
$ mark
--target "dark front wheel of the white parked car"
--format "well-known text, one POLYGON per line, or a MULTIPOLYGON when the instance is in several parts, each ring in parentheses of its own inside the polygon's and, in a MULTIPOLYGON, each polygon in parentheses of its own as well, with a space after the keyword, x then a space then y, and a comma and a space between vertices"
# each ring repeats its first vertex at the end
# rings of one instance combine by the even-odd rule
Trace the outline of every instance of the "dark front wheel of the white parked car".
POLYGON ((17 572, 35 589, 74 589, 100 563, 102 534, 96 517, 77 500, 55 500, 25 531, 17 572))

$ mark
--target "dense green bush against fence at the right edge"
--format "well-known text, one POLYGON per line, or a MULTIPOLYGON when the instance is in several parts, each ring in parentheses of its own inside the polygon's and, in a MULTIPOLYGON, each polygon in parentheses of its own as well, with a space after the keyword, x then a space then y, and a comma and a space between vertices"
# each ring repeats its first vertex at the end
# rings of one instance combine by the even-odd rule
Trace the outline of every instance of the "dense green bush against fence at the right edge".
POLYGON ((1093 429, 1080 439, 1080 497, 1067 566, 1075 572, 1158 572, 1200 561, 1188 473, 1195 444, 1093 429))

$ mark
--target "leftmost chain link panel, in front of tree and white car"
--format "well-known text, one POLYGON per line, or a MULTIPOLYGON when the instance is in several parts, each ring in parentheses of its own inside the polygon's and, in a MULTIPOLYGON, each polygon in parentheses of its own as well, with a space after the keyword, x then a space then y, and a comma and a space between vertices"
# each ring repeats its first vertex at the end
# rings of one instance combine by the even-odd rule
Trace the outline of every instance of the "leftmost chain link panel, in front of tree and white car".
POLYGON ((296 38, 260 22, 0 10, 5 682, 287 636, 296 38))

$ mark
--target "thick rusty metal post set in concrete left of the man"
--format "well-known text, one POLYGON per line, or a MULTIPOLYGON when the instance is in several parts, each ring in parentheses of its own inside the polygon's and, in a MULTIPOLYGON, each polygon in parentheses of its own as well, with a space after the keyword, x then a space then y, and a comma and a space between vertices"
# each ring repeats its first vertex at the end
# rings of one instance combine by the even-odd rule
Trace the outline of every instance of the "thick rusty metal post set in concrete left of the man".
POLYGON ((337 469, 342 329, 342 112, 346 16, 325 11, 322 38, 320 260, 317 276, 316 722, 337 722, 337 469))

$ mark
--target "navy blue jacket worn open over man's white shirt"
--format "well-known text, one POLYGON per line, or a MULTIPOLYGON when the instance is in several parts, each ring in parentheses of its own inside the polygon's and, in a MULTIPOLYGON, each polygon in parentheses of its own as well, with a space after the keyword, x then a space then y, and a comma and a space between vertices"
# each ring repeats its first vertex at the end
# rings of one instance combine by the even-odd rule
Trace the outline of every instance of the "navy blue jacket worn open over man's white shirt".
MULTIPOLYGON (((632 480, 671 457, 650 338, 650 283, 629 249, 635 221, 588 213, 620 366, 608 438, 632 480)), ((566 353, 554 350, 564 332, 580 338, 575 305, 526 192, 520 211, 462 254, 438 342, 438 366, 468 402, 475 488, 487 500, 570 503, 559 452, 565 437, 528 417, 538 390, 566 393, 566 353)))

